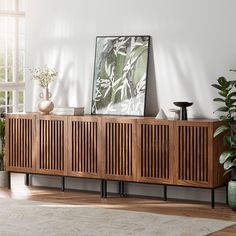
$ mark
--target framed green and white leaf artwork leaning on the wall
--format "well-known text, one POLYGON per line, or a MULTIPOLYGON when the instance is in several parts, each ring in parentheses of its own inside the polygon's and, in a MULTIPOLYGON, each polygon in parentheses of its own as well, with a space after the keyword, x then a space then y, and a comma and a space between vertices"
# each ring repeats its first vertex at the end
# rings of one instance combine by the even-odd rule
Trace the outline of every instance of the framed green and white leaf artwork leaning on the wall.
POLYGON ((92 114, 144 115, 149 36, 97 37, 92 114))

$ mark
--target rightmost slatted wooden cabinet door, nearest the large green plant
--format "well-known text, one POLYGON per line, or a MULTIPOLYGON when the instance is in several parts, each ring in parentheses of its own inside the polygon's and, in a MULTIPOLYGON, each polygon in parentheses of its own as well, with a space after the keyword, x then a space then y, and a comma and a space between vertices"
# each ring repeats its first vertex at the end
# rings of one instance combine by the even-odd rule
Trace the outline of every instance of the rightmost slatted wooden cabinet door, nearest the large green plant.
POLYGON ((176 183, 213 187, 213 122, 175 121, 176 183))

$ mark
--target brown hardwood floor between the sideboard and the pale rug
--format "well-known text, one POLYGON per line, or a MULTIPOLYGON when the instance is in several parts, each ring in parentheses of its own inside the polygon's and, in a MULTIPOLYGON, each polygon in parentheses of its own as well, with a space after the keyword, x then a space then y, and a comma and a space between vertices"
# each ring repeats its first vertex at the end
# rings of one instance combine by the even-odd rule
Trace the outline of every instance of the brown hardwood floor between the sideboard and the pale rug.
MULTIPOLYGON (((65 204, 93 205, 96 207, 124 209, 130 211, 143 211, 159 214, 191 216, 229 220, 236 222, 236 212, 226 204, 217 203, 215 209, 211 209, 209 203, 186 200, 168 200, 128 196, 121 198, 116 194, 109 194, 107 199, 101 199, 100 193, 66 190, 45 187, 27 187, 24 185, 24 175, 12 174, 12 188, 0 189, 0 198, 28 199, 43 202, 58 202, 65 204)), ((236 235, 236 224, 211 236, 236 235)))

